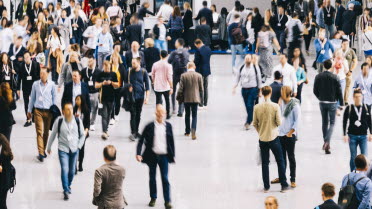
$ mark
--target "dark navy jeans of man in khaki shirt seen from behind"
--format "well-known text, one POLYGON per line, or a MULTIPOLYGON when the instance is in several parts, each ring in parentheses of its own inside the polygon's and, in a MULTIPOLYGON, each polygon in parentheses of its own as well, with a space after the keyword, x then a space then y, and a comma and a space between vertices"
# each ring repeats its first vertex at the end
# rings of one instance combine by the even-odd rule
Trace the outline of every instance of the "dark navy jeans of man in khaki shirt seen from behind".
POLYGON ((279 137, 269 142, 260 142, 261 150, 261 160, 262 160, 262 180, 265 189, 270 189, 270 173, 269 173, 269 163, 270 163, 270 150, 274 153, 276 163, 278 165, 278 173, 280 184, 283 187, 287 187, 287 177, 285 176, 285 163, 283 158, 282 146, 280 144, 279 137))

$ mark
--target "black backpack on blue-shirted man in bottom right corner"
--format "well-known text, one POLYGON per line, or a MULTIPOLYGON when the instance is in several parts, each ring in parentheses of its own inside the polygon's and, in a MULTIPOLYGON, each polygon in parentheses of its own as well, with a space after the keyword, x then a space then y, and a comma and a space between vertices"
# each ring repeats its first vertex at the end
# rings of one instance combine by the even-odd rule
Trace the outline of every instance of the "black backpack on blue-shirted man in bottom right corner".
POLYGON ((340 189, 338 193, 338 205, 342 209, 358 209, 360 202, 356 197, 356 184, 366 178, 365 176, 359 178, 354 184, 350 184, 349 175, 347 176, 347 184, 346 186, 340 189))

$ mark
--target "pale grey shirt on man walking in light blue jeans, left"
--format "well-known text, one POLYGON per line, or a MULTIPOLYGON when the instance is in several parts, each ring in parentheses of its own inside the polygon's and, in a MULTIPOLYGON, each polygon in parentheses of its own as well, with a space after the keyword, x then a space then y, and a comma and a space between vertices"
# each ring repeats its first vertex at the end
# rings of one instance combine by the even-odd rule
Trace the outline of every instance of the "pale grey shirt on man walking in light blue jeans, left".
POLYGON ((52 133, 49 137, 48 141, 48 148, 47 150, 51 150, 52 145, 56 137, 58 137, 58 150, 62 152, 69 153, 70 151, 72 153, 75 153, 78 151, 78 149, 81 149, 84 145, 85 140, 85 134, 84 134, 84 126, 83 122, 80 121, 80 136, 79 136, 79 128, 78 124, 76 123, 75 118, 72 118, 70 122, 66 120, 66 118, 63 118, 60 130, 59 130, 59 136, 58 136, 58 123, 59 119, 61 117, 57 118, 54 121, 52 133))

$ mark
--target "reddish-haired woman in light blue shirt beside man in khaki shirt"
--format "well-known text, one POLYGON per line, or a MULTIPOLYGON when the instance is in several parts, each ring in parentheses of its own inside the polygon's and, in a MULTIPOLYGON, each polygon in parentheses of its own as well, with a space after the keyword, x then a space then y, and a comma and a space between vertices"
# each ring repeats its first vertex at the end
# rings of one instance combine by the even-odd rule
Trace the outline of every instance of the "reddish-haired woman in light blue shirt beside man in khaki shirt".
MULTIPOLYGON (((292 98, 292 90, 289 86, 281 89, 282 102, 280 104, 282 112, 282 123, 279 126, 279 139, 283 150, 284 165, 287 168, 287 155, 291 176, 291 187, 296 187, 296 158, 295 145, 298 135, 298 123, 301 115, 300 101, 292 98)), ((279 179, 272 181, 279 183, 279 179)))

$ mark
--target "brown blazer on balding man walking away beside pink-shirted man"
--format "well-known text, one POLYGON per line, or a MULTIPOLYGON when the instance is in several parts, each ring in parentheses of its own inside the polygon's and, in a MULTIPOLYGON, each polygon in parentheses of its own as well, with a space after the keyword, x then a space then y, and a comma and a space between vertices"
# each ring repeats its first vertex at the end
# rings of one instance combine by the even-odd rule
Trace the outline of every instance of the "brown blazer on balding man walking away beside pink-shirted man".
POLYGON ((188 71, 181 75, 177 100, 182 103, 200 103, 200 94, 203 95, 203 77, 195 71, 188 71))

